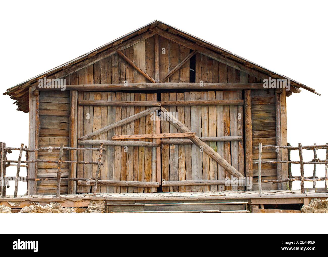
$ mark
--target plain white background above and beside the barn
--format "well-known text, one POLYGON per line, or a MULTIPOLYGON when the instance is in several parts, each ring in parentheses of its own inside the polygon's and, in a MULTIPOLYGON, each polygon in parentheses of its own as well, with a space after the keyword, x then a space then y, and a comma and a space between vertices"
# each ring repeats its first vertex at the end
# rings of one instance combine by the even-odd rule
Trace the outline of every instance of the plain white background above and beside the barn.
MULTIPOLYGON (((0 10, 1 92, 157 19, 315 88, 321 96, 302 89, 287 98, 287 138, 292 146, 328 142, 327 4, 323 1, 2 1, 0 10)), ((28 114, 17 112, 12 104, 8 96, 0 96, 0 141, 19 147, 28 144, 28 114)), ((10 156, 17 159, 17 151, 10 156)), ((319 150, 318 158, 324 157, 325 150, 319 150)), ((313 152, 304 150, 304 160, 312 159, 313 152)), ((292 151, 292 160, 298 160, 297 151, 292 151)), ((299 165, 293 164, 292 169, 299 175, 299 165)), ((7 174, 14 175, 15 167, 10 170, 7 174)), ((318 176, 324 175, 324 165, 317 170, 318 176)), ((313 166, 307 166, 305 176, 312 172, 313 166)), ((311 184, 305 182, 305 187, 311 184)), ((317 187, 322 185, 317 182, 317 187)), ((13 188, 11 184, 8 193, 13 188)), ((299 182, 293 188, 299 188, 299 182)), ((19 194, 25 190, 20 185, 19 194)), ((155 223, 163 220, 158 217, 155 223)), ((298 229, 303 228, 295 227, 294 232, 298 229)))

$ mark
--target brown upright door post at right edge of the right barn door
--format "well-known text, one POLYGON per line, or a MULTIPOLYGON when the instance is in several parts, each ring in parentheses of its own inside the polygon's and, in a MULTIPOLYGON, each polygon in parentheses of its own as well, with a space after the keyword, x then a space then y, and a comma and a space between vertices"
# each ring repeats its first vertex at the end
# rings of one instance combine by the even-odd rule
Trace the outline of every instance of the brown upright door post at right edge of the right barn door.
POLYGON ((252 135, 252 105, 251 105, 251 90, 245 90, 244 92, 245 104, 245 176, 249 180, 249 187, 247 190, 252 190, 253 183, 253 135, 252 135))

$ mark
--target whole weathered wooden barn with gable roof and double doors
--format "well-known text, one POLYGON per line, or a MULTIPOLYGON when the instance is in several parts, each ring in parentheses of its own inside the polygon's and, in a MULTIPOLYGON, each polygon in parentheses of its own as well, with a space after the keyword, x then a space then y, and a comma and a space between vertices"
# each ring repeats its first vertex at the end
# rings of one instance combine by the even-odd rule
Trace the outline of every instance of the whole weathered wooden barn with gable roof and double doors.
MULTIPOLYGON (((97 183, 97 196, 106 194, 109 206, 117 200, 133 205, 137 197, 149 197, 149 205, 161 197, 176 199, 175 204, 203 198, 215 203, 225 197, 239 206, 236 210, 245 210, 250 203, 246 193, 258 190, 259 143, 287 146, 286 97, 301 89, 318 94, 153 21, 4 94, 29 113, 28 148, 40 149, 30 151, 29 160, 53 161, 29 163, 28 177, 39 180, 28 181, 28 195, 56 194, 57 181, 42 178, 58 177, 55 161, 60 158, 60 195, 90 196, 97 183), (228 197, 238 194, 241 200, 228 197)), ((288 161, 287 151, 261 150, 262 180, 285 182, 263 182, 269 200, 253 205, 281 203, 275 201, 279 197, 272 200, 272 192, 287 195, 288 163, 274 162, 288 161)), ((303 203, 299 196, 290 199, 294 202, 284 203, 303 203)), ((203 210, 213 210, 207 207, 203 210)), ((115 210, 140 211, 129 208, 115 210)))

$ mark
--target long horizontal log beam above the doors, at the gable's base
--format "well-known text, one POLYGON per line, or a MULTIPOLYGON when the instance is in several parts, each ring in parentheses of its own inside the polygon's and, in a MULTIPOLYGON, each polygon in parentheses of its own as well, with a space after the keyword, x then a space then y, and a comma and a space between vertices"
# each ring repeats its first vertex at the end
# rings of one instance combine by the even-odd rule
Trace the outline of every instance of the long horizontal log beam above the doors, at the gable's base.
MULTIPOLYGON (((157 89, 195 89, 195 90, 243 90, 263 89, 263 83, 130 83, 130 84, 84 84, 66 85, 65 90, 78 91, 122 91, 122 90, 157 90, 157 89)), ((61 88, 40 88, 39 90, 61 90, 61 88)))

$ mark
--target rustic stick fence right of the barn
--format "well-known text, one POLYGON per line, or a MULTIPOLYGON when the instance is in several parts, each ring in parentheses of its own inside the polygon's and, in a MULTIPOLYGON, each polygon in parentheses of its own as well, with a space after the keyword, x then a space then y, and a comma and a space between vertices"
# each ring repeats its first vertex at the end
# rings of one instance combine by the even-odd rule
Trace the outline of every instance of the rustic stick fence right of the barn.
POLYGON ((284 183, 288 182, 289 183, 289 188, 292 188, 292 183, 293 181, 301 181, 301 193, 305 193, 304 189, 304 181, 312 181, 313 182, 313 188, 316 187, 316 182, 317 181, 325 181, 325 187, 324 189, 327 190, 327 182, 328 182, 328 143, 325 145, 317 145, 314 143, 312 146, 302 146, 301 143, 298 144, 298 147, 293 147, 293 146, 272 146, 272 145, 267 145, 267 146, 262 146, 262 143, 259 143, 258 147, 255 147, 255 149, 258 149, 258 162, 254 162, 254 164, 258 164, 258 193, 262 194, 262 183, 284 183), (290 158, 288 158, 288 161, 282 161, 282 160, 277 160, 277 161, 264 161, 262 162, 262 149, 263 148, 274 148, 274 149, 288 149, 288 155, 290 156, 290 151, 291 150, 298 150, 299 152, 299 161, 291 161, 290 158), (317 158, 317 150, 318 149, 326 149, 326 156, 325 160, 320 160, 317 158), (304 162, 303 160, 303 150, 313 150, 314 158, 313 160, 309 162, 304 162), (288 163, 288 179, 262 179, 262 164, 269 164, 269 163, 288 163), (300 176, 292 176, 291 164, 300 164, 300 176), (304 177, 304 165, 305 164, 313 164, 314 169, 313 169, 313 176, 311 177, 304 177), (325 165, 325 177, 317 177, 317 165, 318 164, 324 164, 325 165))

